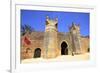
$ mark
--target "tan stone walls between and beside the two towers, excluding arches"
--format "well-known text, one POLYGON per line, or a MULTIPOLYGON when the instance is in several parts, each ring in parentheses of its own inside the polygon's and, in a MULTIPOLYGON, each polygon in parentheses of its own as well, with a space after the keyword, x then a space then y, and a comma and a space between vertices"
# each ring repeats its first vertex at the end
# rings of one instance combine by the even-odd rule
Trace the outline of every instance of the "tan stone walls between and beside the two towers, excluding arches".
MULTIPOLYGON (((28 58, 34 58, 34 52, 37 48, 41 49, 41 57, 44 58, 45 54, 45 48, 44 48, 44 32, 32 32, 30 35, 25 35, 21 37, 21 59, 28 59, 28 58), (31 45, 25 45, 23 43, 23 38, 27 36, 31 40, 31 45), (28 51, 27 51, 28 49, 28 51)), ((61 55, 61 43, 63 41, 66 42, 68 45, 68 54, 72 54, 72 39, 70 38, 70 33, 57 33, 57 45, 58 45, 58 51, 55 51, 57 53, 57 56, 61 55)), ((54 42, 55 43, 55 42, 54 42)), ((53 45, 55 46, 56 44, 53 45)), ((57 46, 56 45, 56 46, 57 46)), ((82 53, 86 53, 88 51, 89 47, 89 37, 81 37, 81 50, 82 53)))

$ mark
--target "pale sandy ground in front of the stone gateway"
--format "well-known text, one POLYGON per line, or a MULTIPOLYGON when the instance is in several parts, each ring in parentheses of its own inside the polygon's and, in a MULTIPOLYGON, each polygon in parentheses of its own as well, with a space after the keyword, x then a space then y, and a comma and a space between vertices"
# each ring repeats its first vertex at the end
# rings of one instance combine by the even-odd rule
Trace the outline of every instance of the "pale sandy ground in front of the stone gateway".
POLYGON ((57 58, 53 59, 44 59, 44 58, 32 58, 32 59, 25 59, 22 60, 21 63, 37 63, 37 62, 59 62, 59 61, 80 61, 80 60, 88 60, 89 53, 81 54, 81 55, 62 55, 58 56, 57 58))

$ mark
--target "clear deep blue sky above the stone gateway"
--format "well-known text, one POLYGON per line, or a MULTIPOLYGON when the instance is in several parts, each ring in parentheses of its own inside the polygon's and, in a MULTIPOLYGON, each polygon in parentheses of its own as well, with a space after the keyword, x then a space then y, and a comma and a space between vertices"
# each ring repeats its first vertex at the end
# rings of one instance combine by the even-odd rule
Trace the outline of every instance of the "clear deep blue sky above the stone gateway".
POLYGON ((60 11, 37 11, 21 10, 21 25, 30 25, 35 31, 44 31, 46 16, 51 19, 58 18, 58 31, 68 32, 72 22, 80 24, 80 33, 83 36, 89 35, 89 13, 60 12, 60 11))

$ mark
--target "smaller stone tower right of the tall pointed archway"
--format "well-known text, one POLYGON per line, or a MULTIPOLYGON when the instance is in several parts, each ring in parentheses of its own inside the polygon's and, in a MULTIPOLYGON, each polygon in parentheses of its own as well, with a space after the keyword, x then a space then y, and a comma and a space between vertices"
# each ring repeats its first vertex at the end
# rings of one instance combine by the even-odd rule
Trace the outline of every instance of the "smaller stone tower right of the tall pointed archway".
POLYGON ((74 54, 80 54, 81 53, 80 26, 76 25, 75 23, 72 23, 72 26, 70 27, 70 34, 72 38, 72 52, 74 54))

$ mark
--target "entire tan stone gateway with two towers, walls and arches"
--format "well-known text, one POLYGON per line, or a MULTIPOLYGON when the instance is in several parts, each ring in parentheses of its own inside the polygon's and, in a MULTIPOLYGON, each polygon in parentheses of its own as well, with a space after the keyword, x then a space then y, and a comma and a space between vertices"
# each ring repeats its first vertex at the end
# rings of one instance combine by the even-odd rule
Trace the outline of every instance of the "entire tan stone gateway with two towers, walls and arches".
POLYGON ((72 23, 69 32, 58 32, 58 19, 46 17, 45 32, 32 31, 21 35, 21 60, 28 58, 56 58, 88 52, 89 37, 80 35, 80 25, 72 23))

